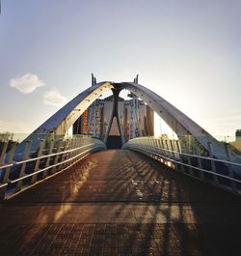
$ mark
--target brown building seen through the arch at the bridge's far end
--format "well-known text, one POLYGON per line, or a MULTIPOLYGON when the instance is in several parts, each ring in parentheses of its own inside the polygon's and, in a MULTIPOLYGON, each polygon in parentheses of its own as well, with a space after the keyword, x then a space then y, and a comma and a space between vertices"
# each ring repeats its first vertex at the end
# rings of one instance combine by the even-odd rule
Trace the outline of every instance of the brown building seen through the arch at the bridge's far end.
MULTIPOLYGON (((103 139, 107 132, 113 108, 113 96, 94 103, 74 123, 73 134, 90 134, 103 139)), ((138 136, 154 135, 154 113, 143 100, 119 98, 120 128, 124 140, 138 136)), ((119 136, 117 120, 114 118, 110 136, 119 136)))

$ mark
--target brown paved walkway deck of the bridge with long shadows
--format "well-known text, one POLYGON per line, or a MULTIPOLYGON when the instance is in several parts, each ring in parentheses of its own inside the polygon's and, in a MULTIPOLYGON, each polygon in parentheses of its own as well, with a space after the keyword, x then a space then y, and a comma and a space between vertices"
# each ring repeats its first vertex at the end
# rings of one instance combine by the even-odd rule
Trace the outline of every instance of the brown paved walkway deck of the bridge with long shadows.
POLYGON ((241 200, 129 151, 1 205, 0 255, 237 255, 241 200))

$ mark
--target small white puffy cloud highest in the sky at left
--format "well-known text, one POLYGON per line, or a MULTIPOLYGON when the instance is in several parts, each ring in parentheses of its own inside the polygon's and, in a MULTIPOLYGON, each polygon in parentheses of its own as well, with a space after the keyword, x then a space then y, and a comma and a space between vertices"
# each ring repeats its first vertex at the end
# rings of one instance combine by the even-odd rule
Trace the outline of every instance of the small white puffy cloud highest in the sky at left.
POLYGON ((12 78, 10 80, 10 86, 17 89, 24 94, 30 94, 34 92, 38 87, 44 86, 42 80, 35 73, 27 72, 22 76, 12 78))

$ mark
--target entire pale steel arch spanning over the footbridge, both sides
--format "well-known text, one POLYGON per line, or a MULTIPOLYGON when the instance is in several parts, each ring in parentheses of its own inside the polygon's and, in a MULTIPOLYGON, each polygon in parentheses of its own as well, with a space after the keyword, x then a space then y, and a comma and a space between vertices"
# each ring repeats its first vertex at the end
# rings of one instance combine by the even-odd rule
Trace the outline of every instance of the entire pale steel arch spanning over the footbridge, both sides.
MULTIPOLYGON (((227 160, 226 148, 222 143, 217 141, 211 134, 174 107, 170 102, 153 93, 145 86, 132 82, 114 83, 105 81, 88 88, 51 116, 37 128, 30 137, 33 137, 34 134, 43 134, 43 136, 49 133, 56 135, 65 134, 67 129, 71 127, 94 100, 105 91, 111 89, 129 90, 137 97, 146 101, 147 104, 173 128, 177 136, 193 135, 208 152, 210 152, 210 145, 212 145, 213 156, 227 160)), ((231 154, 230 160, 240 162, 240 157, 231 154)))

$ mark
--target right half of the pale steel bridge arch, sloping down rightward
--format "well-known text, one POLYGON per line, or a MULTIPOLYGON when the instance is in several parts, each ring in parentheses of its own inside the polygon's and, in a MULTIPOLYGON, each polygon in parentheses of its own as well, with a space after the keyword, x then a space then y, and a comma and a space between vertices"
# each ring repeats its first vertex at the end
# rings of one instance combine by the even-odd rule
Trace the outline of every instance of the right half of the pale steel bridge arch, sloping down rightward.
POLYGON ((228 159, 226 147, 221 142, 217 141, 205 129, 201 128, 192 119, 178 110, 167 100, 164 100, 159 95, 150 91, 146 87, 131 82, 123 82, 116 84, 121 88, 129 90, 132 94, 144 100, 150 108, 152 108, 169 126, 174 130, 178 137, 192 135, 203 148, 208 152, 210 145, 212 146, 212 155, 225 160, 240 162, 240 157, 231 154, 228 159))

